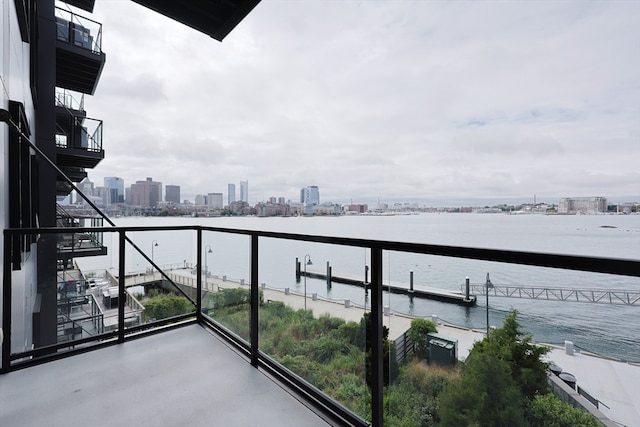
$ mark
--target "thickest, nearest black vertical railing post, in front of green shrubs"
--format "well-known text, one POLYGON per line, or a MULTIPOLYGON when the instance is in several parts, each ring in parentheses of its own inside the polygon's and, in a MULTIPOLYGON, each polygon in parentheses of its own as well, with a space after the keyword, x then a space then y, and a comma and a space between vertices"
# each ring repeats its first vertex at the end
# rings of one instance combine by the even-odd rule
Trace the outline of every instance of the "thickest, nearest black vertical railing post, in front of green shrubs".
POLYGON ((371 421, 374 426, 382 426, 384 415, 382 277, 382 249, 371 248, 371 421))

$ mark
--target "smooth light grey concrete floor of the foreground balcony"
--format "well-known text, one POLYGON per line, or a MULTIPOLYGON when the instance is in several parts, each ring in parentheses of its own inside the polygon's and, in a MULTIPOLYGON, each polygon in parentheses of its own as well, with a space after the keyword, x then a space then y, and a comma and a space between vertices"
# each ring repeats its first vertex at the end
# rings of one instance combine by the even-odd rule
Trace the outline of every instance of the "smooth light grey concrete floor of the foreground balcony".
POLYGON ((0 426, 327 426, 199 325, 0 376, 0 426))

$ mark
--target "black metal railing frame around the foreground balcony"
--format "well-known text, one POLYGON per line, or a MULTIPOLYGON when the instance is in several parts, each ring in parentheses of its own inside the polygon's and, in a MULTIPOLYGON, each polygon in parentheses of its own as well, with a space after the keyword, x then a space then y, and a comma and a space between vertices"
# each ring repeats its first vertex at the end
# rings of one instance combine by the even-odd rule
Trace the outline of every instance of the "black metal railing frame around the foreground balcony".
MULTIPOLYGON (((111 345, 114 343, 124 343, 127 339, 142 336, 146 333, 158 332, 158 328, 161 326, 167 326, 173 324, 176 327, 184 324, 199 323, 210 326, 216 331, 222 338, 239 351, 240 354, 244 354, 248 357, 251 365, 256 368, 263 368, 270 375, 277 377, 280 381, 284 382, 286 386, 293 388, 296 392, 300 393, 305 399, 308 399, 314 403, 318 408, 322 410, 326 416, 339 423, 347 423, 351 425, 367 425, 365 420, 362 420, 357 415, 352 414, 348 409, 343 408, 341 405, 333 401, 328 396, 324 395, 321 391, 318 391, 313 385, 308 384, 305 380, 297 377, 295 374, 289 372, 286 368, 282 367, 278 363, 274 362, 267 355, 260 352, 259 349, 259 336, 258 336, 258 302, 259 302, 259 240, 261 238, 273 238, 281 240, 292 241, 304 241, 310 243, 324 243, 333 245, 342 245, 350 247, 361 247, 370 250, 370 265, 371 265, 371 313, 372 313, 372 370, 373 370, 373 385, 371 390, 372 395, 372 409, 371 409, 371 422, 373 425, 378 426, 383 423, 383 307, 382 307, 382 293, 383 293, 383 251, 399 251, 409 252, 425 255, 438 255, 445 257, 474 259, 493 261, 507 264, 521 264, 532 265, 539 267, 559 268, 566 270, 578 270, 593 273, 609 273, 615 275, 640 277, 640 261, 632 259, 614 259, 614 258, 601 258, 601 257, 586 257, 586 256, 574 256, 574 255, 558 255, 547 254, 537 252, 517 252, 508 250, 496 250, 496 249, 482 249, 482 248, 469 248, 469 247, 455 247, 455 246, 441 246, 441 245, 428 245, 417 243, 404 243, 404 242, 392 242, 392 241, 380 241, 380 240, 368 240, 368 239, 352 239, 342 237, 328 237, 328 236, 313 236, 303 234, 292 233, 280 233, 269 231, 256 231, 256 230, 242 230, 242 229, 227 229, 219 227, 205 227, 205 226, 156 226, 156 227, 111 227, 111 228, 78 228, 76 232, 115 232, 118 234, 119 244, 119 277, 118 285, 120 295, 125 293, 125 250, 126 243, 133 245, 133 249, 139 250, 139 248, 133 244, 131 239, 127 236, 128 232, 150 232, 150 231, 179 231, 187 230, 194 231, 196 233, 197 240, 197 253, 196 253, 196 269, 197 269, 197 281, 196 281, 196 301, 193 301, 189 296, 183 292, 179 287, 179 290, 185 297, 189 298, 194 303, 195 313, 185 314, 177 316, 171 319, 163 319, 157 322, 151 322, 144 325, 138 325, 135 327, 125 328, 125 316, 124 305, 125 298, 119 298, 118 306, 118 330, 114 332, 100 334, 96 337, 85 338, 77 341, 72 341, 71 345, 74 346, 72 350, 64 353, 51 353, 51 351, 58 351, 68 349, 70 343, 61 343, 46 348, 39 348, 28 352, 19 354, 11 354, 11 242, 13 238, 19 238, 25 234, 52 234, 52 233, 64 233, 67 232, 61 228, 32 228, 32 229, 7 229, 4 230, 4 278, 3 278, 3 328, 5 329, 5 341, 2 344, 2 373, 9 372, 11 370, 19 369, 21 367, 30 366, 33 364, 44 363, 55 358, 61 358, 68 355, 77 354, 79 352, 90 351, 95 348, 100 348, 105 345, 111 345), (202 233, 207 232, 219 232, 227 234, 245 235, 251 240, 250 245, 250 289, 251 289, 251 314, 250 314, 250 340, 249 343, 243 341, 240 337, 236 336, 233 332, 226 330, 223 326, 218 324, 215 320, 202 313, 202 233), (97 342, 95 346, 83 347, 81 344, 89 344, 91 342, 97 342), (80 348, 78 348, 78 346, 80 348), (14 360, 23 360, 25 357, 30 358, 26 362, 18 362, 12 365, 14 360)), ((145 254, 143 254, 144 256, 145 254)), ((155 268, 158 266, 149 258, 145 257, 155 268)), ((168 274, 160 270, 160 273, 173 283, 168 274)))

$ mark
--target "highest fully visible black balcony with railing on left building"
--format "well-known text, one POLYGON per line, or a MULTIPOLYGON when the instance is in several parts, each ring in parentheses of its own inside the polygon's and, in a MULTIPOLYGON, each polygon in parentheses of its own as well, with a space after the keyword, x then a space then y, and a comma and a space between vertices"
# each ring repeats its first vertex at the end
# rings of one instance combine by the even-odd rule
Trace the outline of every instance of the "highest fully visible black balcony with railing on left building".
POLYGON ((56 86, 93 94, 106 61, 102 24, 56 7, 56 86))

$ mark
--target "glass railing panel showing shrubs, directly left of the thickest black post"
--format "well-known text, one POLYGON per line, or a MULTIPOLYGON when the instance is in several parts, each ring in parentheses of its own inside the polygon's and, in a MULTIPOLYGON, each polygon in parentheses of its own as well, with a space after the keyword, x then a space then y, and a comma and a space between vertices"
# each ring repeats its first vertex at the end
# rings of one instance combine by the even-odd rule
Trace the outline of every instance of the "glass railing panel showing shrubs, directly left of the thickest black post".
POLYGON ((363 248, 260 239, 259 348, 368 417, 363 248))

